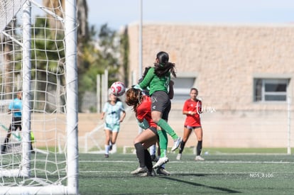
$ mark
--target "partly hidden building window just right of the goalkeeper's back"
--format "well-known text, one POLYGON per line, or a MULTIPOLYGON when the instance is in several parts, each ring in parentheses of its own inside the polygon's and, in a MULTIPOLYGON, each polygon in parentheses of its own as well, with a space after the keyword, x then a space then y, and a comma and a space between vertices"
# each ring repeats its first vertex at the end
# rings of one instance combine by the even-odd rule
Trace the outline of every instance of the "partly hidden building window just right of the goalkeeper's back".
POLYGON ((190 97, 190 89, 195 85, 196 77, 177 77, 173 78, 175 85, 173 101, 185 101, 190 97))

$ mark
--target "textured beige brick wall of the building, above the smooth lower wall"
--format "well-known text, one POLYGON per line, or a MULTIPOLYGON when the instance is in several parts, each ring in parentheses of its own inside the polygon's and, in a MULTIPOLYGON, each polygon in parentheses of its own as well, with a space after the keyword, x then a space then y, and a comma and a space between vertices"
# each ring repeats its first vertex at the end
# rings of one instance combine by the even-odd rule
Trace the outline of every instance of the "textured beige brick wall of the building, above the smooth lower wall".
MULTIPOLYGON (((156 53, 165 50, 179 74, 197 73, 196 87, 207 102, 225 97, 239 108, 258 109, 265 105, 252 104, 252 98, 247 98, 253 94, 254 76, 293 78, 293 31, 290 25, 148 24, 143 26, 143 67, 152 66, 156 53)), ((136 25, 129 26, 129 44, 130 72, 138 73, 136 25)), ((290 87, 293 96, 292 82, 290 87)))

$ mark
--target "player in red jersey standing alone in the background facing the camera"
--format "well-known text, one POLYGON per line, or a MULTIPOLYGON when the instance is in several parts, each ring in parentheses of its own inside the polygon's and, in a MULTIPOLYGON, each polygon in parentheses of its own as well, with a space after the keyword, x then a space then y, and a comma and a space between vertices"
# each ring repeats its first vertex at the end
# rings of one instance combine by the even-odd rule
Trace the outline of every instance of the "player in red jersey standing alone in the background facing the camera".
POLYGON ((204 160, 201 155, 202 150, 202 127, 200 121, 200 113, 202 113, 202 101, 197 99, 198 90, 195 88, 190 89, 190 99, 185 101, 183 106, 183 114, 186 115, 185 125, 184 125, 184 135, 183 140, 180 143, 180 150, 177 155, 177 160, 181 160, 182 152, 185 147, 187 139, 190 137, 192 130, 194 130, 197 137, 197 155, 195 160, 204 160))

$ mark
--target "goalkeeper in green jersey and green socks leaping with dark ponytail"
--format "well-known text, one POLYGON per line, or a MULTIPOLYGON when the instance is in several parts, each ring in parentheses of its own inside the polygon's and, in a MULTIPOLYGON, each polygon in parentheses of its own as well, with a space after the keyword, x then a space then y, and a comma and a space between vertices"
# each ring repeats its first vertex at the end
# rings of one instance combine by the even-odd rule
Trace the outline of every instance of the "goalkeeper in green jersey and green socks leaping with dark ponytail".
POLYGON ((151 96, 151 117, 152 120, 160 127, 158 130, 160 158, 153 168, 158 168, 160 165, 168 162, 166 150, 168 147, 168 133, 174 140, 172 151, 175 151, 181 142, 181 138, 171 128, 168 121, 168 114, 171 108, 170 99, 173 98, 173 93, 168 94, 169 89, 173 89, 173 81, 170 80, 170 74, 176 77, 175 64, 168 62, 169 56, 167 52, 158 52, 154 67, 148 69, 148 72, 143 77, 143 80, 138 84, 141 89, 149 89, 151 96))

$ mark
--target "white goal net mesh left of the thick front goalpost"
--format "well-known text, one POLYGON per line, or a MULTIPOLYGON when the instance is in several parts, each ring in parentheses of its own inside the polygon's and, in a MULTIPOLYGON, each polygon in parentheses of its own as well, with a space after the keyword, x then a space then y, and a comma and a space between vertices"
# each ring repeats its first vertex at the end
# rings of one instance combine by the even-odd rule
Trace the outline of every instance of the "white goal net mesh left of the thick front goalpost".
MULTIPOLYGON (((31 4, 31 140, 30 176, 19 177, 23 166, 22 131, 7 143, 13 115, 9 104, 22 90, 22 13, 24 1, 0 1, 0 186, 66 185, 65 151, 65 32, 60 1, 50 7, 31 4), (45 11, 44 11, 45 10, 45 11), (49 13, 53 13, 50 15, 49 13), (54 15, 55 14, 55 15, 54 15)), ((26 151, 24 151, 26 152, 26 151)))

